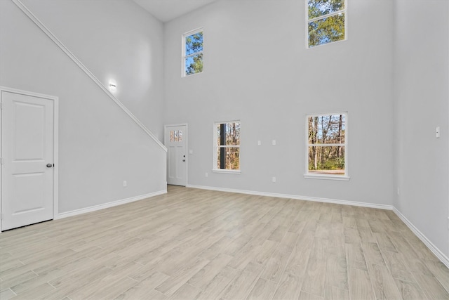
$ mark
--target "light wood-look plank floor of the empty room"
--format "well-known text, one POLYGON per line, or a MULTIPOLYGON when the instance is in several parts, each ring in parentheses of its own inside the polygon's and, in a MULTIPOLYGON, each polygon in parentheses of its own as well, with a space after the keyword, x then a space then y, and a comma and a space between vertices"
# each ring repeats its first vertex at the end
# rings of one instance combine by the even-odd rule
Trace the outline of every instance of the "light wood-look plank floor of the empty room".
POLYGON ((392 211, 168 187, 0 234, 0 299, 449 299, 392 211))

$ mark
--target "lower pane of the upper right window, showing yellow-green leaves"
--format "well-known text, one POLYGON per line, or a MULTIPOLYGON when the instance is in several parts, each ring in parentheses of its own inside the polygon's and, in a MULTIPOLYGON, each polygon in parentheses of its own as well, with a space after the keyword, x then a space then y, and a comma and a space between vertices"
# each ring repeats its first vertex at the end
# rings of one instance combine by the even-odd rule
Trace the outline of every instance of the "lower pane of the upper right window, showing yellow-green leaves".
POLYGON ((309 47, 344 39, 344 13, 309 22, 309 47))

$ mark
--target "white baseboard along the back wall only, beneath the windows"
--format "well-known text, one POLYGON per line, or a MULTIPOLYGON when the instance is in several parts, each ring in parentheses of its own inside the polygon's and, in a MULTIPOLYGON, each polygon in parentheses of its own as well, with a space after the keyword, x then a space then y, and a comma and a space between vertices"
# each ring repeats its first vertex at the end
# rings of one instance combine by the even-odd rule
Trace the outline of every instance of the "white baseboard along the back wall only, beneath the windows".
POLYGON ((326 203, 343 204, 343 205, 354 205, 356 207, 370 207, 370 208, 374 208, 374 209, 388 209, 388 210, 393 209, 393 207, 391 205, 385 205, 385 204, 355 202, 355 201, 336 200, 336 199, 318 198, 318 197, 307 197, 307 196, 300 196, 300 195, 265 193, 265 192, 257 192, 255 190, 235 190, 232 188, 215 188, 215 187, 203 186, 203 185, 187 185, 187 188, 199 188, 201 190, 217 190, 220 192, 229 192, 229 193, 240 193, 240 194, 257 195, 257 196, 288 198, 288 199, 306 200, 306 201, 314 201, 314 202, 326 202, 326 203))

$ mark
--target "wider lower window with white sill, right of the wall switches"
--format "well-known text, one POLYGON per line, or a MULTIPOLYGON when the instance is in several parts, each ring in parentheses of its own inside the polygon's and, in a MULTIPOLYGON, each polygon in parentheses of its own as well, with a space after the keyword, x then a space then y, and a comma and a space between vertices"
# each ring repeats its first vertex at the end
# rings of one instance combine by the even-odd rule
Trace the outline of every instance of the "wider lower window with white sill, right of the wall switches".
POLYGON ((307 116, 306 175, 347 176, 347 114, 307 116))

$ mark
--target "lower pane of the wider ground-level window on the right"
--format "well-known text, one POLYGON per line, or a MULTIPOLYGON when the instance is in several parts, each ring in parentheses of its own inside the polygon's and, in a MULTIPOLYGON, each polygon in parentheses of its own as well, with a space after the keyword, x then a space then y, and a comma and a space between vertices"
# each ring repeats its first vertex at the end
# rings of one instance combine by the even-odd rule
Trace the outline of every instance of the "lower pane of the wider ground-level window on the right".
POLYGON ((309 172, 344 175, 344 146, 309 146, 309 172))

